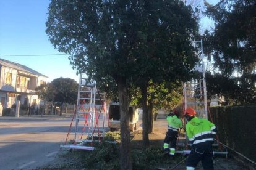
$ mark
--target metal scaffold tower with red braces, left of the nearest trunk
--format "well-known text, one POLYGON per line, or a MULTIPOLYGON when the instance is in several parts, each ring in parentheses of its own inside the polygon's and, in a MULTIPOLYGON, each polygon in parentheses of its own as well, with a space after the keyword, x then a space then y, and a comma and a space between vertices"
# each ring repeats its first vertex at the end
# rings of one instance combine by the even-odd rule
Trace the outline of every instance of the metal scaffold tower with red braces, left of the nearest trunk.
POLYGON ((92 142, 101 142, 108 131, 105 93, 96 87, 96 81, 88 81, 80 74, 75 109, 64 148, 93 150, 92 142), (74 126, 74 127, 72 127, 74 126), (74 138, 70 132, 74 131, 74 138), (67 144, 70 140, 70 144, 67 144))

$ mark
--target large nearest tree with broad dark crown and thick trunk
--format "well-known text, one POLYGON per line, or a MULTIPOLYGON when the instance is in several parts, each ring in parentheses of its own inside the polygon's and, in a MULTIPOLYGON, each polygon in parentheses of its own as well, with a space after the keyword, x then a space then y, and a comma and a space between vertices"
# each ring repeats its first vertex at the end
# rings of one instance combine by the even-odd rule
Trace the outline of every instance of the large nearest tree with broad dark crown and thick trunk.
POLYGON ((54 47, 69 54, 74 68, 89 79, 111 77, 117 84, 122 169, 132 169, 129 84, 140 87, 147 109, 150 79, 188 78, 197 61, 189 42, 196 28, 191 9, 178 0, 51 1, 46 33, 54 47))

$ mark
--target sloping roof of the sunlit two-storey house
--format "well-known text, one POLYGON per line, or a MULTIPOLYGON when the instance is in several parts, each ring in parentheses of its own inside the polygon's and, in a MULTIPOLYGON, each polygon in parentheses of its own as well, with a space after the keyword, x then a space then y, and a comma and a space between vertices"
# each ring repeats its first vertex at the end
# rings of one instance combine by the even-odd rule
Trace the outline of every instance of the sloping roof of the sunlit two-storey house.
POLYGON ((5 66, 5 67, 9 67, 9 68, 14 68, 14 69, 19 70, 19 71, 25 71, 25 72, 28 72, 28 73, 32 73, 33 75, 43 76, 43 77, 48 78, 48 76, 45 76, 45 75, 33 70, 32 68, 29 68, 25 65, 21 65, 19 63, 10 62, 8 60, 0 59, 0 65, 5 66))

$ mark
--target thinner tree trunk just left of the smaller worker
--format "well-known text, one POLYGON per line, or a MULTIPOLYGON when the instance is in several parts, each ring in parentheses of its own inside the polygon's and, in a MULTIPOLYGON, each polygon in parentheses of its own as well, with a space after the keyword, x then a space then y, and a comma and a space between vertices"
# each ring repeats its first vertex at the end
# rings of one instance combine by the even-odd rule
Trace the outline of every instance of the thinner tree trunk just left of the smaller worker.
POLYGON ((142 91, 142 142, 145 147, 149 146, 148 138, 148 105, 147 105, 147 87, 140 87, 142 91))

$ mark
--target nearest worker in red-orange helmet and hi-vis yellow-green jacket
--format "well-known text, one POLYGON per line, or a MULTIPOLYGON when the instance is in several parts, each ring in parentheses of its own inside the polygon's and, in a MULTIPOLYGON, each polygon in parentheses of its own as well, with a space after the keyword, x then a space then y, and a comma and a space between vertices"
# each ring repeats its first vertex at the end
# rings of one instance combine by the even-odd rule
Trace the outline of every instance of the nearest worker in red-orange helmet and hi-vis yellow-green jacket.
POLYGON ((187 170, 193 170, 199 161, 203 169, 213 169, 213 138, 216 136, 216 126, 207 119, 197 118, 193 108, 184 111, 187 120, 186 134, 192 144, 187 158, 187 170))

